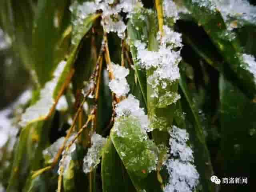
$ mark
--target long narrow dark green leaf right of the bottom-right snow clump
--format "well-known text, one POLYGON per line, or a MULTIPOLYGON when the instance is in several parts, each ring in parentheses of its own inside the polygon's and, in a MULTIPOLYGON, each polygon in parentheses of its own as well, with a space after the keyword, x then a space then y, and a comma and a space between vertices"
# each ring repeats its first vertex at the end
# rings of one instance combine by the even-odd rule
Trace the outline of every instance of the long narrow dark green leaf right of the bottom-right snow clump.
MULTIPOLYGON (((184 94, 184 97, 182 97, 182 107, 184 107, 183 111, 186 112, 186 118, 183 120, 186 120, 186 129, 188 130, 190 141, 194 145, 194 158, 200 174, 200 183, 203 186, 203 191, 213 192, 215 191, 215 186, 210 181, 210 177, 213 174, 210 154, 198 115, 197 103, 194 102, 187 86, 185 70, 184 63, 182 63, 180 66, 180 88, 184 94)), ((182 125, 182 123, 180 124, 182 125)))

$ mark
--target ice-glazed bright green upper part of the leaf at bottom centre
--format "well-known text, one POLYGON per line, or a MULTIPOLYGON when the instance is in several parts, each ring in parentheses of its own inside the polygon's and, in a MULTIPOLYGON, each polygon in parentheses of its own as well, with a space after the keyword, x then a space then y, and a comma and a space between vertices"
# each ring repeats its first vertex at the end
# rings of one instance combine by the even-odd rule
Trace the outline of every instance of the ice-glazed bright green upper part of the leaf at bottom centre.
POLYGON ((158 149, 137 117, 117 118, 110 136, 129 174, 145 178, 149 172, 156 170, 158 149))

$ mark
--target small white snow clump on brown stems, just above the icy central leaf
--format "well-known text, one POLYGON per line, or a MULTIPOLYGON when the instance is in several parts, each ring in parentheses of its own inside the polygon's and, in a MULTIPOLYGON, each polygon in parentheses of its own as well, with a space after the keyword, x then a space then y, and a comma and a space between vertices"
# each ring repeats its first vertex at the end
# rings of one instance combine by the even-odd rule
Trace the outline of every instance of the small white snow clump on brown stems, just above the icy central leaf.
POLYGON ((114 74, 115 79, 111 80, 108 86, 117 97, 125 96, 130 91, 129 84, 125 78, 129 74, 129 70, 114 63, 111 66, 111 70, 108 70, 114 74))

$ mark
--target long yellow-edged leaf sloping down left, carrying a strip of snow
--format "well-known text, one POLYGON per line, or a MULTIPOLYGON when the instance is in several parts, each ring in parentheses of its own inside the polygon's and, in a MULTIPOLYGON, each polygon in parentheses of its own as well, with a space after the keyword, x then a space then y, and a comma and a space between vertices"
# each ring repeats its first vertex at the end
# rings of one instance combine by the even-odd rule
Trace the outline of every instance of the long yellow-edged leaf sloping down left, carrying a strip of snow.
MULTIPOLYGON (((86 18, 84 21, 84 34, 88 32, 92 26, 92 22, 98 18, 97 15, 92 15, 86 18)), ((72 53, 67 62, 60 62, 58 67, 54 71, 54 78, 47 82, 44 88, 40 91, 40 99, 34 104, 26 109, 26 112, 22 115, 22 126, 26 126, 31 122, 37 122, 40 120, 45 120, 54 111, 56 104, 64 92, 66 86, 69 84, 74 70, 72 66, 76 59, 76 54, 78 51, 78 44, 75 45, 72 53)))

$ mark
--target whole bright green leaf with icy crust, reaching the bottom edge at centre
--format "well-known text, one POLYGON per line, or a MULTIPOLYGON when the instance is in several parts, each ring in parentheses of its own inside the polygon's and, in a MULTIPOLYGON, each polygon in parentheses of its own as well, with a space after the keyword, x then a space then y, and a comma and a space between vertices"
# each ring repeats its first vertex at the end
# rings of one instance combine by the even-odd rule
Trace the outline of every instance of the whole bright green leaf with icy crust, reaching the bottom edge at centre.
POLYGON ((116 120, 110 132, 111 140, 138 192, 161 191, 157 180, 157 147, 142 131, 137 118, 116 120))

